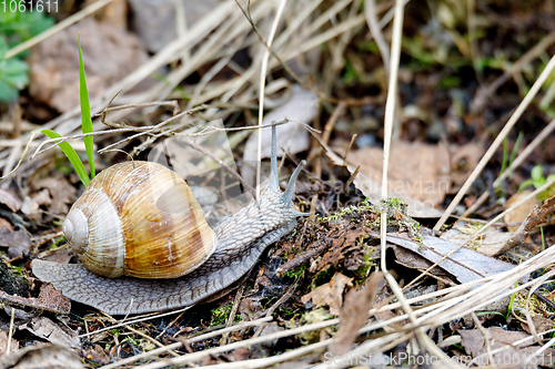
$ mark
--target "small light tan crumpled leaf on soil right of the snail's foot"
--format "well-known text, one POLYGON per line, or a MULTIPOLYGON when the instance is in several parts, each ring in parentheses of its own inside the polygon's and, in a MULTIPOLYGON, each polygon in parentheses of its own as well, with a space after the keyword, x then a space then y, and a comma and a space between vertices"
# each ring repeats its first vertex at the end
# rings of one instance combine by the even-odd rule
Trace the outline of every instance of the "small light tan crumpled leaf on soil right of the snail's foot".
POLYGON ((335 273, 332 280, 301 297, 301 301, 306 304, 312 300, 314 307, 329 306, 330 314, 340 315, 345 287, 353 287, 351 280, 353 278, 349 278, 341 273, 335 273))

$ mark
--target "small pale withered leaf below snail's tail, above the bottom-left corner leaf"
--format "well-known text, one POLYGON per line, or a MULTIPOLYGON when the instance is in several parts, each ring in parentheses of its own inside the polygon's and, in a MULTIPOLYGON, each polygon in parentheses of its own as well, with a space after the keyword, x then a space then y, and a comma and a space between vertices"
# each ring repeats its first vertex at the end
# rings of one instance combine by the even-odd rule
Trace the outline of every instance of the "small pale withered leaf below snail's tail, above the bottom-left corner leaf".
POLYGON ((34 318, 30 324, 20 326, 19 329, 29 330, 34 336, 46 339, 54 345, 75 349, 81 347, 81 341, 77 331, 70 329, 61 322, 54 324, 47 317, 34 318))

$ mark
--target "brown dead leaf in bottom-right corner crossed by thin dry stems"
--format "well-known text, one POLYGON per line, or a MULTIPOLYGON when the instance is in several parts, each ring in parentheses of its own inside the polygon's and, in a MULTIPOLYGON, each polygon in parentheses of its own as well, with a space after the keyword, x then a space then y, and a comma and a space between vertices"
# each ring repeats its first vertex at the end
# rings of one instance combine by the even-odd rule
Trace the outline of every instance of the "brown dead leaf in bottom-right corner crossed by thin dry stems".
POLYGON ((534 366, 539 365, 554 368, 552 359, 555 355, 555 349, 548 348, 543 353, 534 357, 533 353, 537 351, 539 346, 531 346, 534 344, 533 339, 519 344, 516 347, 513 346, 513 342, 527 338, 529 335, 522 331, 509 331, 498 327, 487 328, 486 332, 490 336, 490 347, 492 350, 504 348, 502 351, 492 355, 494 362, 488 362, 490 359, 485 340, 478 329, 458 330, 462 337, 461 345, 465 348, 466 353, 472 353, 474 358, 481 356, 477 362, 475 362, 476 366, 503 365, 503 368, 525 368, 526 360, 532 359, 534 366))

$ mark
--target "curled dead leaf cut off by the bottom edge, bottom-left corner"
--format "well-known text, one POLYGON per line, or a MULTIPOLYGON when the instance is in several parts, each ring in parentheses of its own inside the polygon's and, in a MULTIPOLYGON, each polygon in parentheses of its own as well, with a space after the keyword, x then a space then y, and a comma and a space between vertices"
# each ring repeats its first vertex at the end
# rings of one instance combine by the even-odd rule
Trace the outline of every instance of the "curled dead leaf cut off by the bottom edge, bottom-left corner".
POLYGON ((65 347, 39 344, 23 347, 0 359, 0 368, 82 369, 79 356, 65 347))

